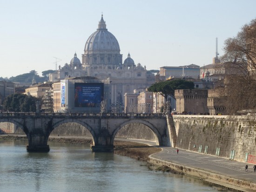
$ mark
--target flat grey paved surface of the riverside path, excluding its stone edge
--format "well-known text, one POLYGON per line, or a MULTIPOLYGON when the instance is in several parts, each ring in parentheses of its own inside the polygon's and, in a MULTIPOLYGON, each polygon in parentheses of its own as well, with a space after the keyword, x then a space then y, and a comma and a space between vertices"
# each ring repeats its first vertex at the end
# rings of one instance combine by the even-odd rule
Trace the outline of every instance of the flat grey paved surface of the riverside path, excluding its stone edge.
POLYGON ((170 161, 175 164, 201 169, 207 172, 217 173, 235 179, 241 179, 256 183, 256 172, 253 171, 253 164, 237 162, 199 152, 191 152, 172 147, 161 147, 162 152, 152 155, 154 158, 170 161), (245 165, 248 165, 248 172, 245 172, 245 165))

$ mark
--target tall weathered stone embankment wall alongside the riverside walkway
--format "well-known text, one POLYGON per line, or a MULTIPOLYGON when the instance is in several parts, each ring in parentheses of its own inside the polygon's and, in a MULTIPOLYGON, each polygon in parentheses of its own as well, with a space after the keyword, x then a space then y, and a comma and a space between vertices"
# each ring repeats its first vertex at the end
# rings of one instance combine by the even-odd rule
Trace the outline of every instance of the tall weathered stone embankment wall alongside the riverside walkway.
POLYGON ((219 149, 220 157, 244 162, 248 155, 247 162, 256 163, 256 116, 174 115, 174 122, 177 148, 196 152, 201 148, 211 155, 219 149))

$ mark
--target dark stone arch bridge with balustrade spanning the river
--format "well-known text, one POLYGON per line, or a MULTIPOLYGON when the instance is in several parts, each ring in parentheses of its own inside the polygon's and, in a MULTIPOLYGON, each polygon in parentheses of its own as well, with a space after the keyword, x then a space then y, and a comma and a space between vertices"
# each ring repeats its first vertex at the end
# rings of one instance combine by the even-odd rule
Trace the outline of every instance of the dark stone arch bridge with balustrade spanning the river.
POLYGON ((70 122, 88 129, 93 137, 91 150, 95 152, 112 152, 116 133, 130 123, 148 126, 158 145, 173 146, 175 139, 172 138, 176 133, 170 133, 170 120, 167 119, 168 116, 160 113, 0 113, 0 122, 9 122, 20 127, 27 135, 27 151, 35 152, 48 152, 50 148, 47 141, 51 132, 59 125, 70 122))

